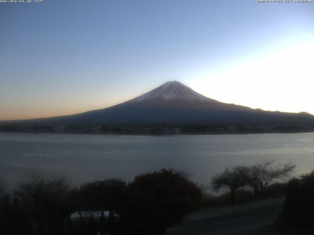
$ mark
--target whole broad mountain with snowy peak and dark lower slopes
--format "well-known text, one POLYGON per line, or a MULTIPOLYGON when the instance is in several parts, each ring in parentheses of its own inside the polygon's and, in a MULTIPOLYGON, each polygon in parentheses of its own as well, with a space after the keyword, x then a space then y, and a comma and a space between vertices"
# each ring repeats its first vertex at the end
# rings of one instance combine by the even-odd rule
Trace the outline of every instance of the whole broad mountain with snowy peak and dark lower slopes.
POLYGON ((127 102, 100 110, 53 118, 2 121, 0 125, 314 125, 309 113, 263 111, 198 94, 177 81, 127 102))

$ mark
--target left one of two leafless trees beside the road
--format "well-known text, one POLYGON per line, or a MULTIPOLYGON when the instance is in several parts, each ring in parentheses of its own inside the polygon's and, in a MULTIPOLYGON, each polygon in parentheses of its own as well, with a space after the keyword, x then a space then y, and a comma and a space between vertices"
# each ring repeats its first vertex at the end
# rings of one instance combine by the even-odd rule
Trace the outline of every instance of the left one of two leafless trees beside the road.
POLYGON ((246 166, 235 166, 231 170, 225 170, 217 174, 211 180, 213 189, 229 188, 231 191, 231 201, 235 202, 235 190, 248 184, 249 168, 246 166))

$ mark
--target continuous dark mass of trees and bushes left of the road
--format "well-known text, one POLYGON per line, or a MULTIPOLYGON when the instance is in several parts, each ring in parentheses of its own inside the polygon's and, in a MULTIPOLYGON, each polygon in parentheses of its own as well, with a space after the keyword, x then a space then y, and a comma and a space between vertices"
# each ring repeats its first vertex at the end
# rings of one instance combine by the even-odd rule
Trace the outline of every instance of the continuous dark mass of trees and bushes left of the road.
POLYGON ((161 235, 202 202, 201 189, 171 169, 138 175, 130 184, 105 180, 73 188, 64 178, 35 179, 11 197, 0 188, 0 228, 10 235, 161 235), (73 221, 75 211, 110 212, 73 221))

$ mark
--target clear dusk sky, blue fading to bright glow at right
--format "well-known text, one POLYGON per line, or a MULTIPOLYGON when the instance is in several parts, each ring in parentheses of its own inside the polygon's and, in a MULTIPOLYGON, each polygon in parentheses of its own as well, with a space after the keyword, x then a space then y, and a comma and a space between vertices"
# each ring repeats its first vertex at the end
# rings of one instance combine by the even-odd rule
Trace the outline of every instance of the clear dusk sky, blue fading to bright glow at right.
POLYGON ((0 120, 101 109, 172 80, 314 114, 314 3, 283 1, 0 2, 0 120))

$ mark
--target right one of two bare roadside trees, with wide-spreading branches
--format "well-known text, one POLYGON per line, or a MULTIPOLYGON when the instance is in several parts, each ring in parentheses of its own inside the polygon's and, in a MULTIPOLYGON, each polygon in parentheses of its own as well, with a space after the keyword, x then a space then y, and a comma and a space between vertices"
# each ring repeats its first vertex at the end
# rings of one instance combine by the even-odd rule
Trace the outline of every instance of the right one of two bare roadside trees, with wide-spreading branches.
POLYGON ((266 160, 250 167, 248 185, 254 189, 256 195, 261 195, 274 180, 287 178, 295 168, 295 164, 291 162, 277 165, 274 165, 274 162, 266 160))

